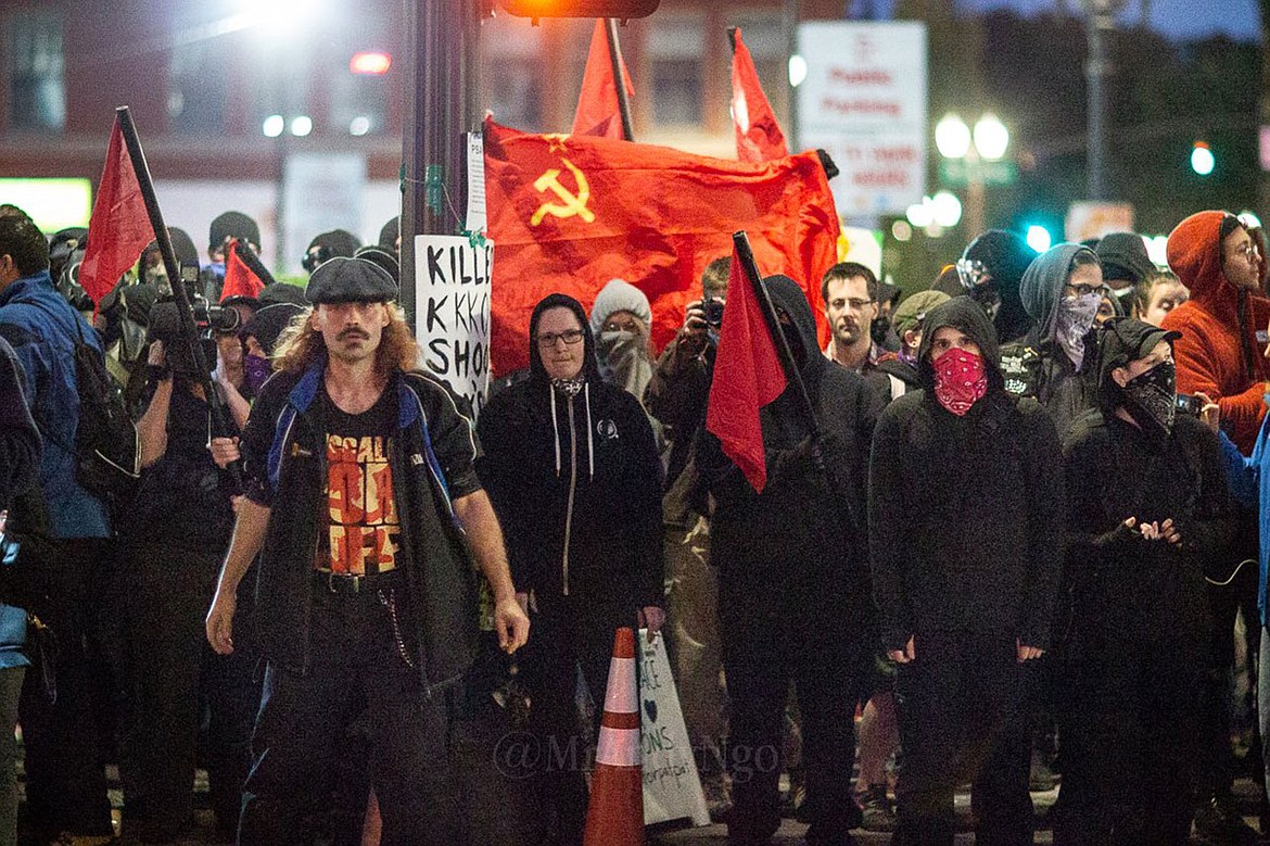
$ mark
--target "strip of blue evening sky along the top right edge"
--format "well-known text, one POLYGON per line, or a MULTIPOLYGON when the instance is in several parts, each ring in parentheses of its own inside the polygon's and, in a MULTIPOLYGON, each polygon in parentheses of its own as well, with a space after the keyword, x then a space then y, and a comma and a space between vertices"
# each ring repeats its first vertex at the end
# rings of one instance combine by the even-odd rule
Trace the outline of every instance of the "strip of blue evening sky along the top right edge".
MULTIPOLYGON (((1053 11, 1059 0, 955 0, 958 8, 987 11, 1015 9, 1020 14, 1053 11)), ((855 0, 857 9, 872 6, 879 15, 888 15, 893 0, 855 0)), ((1066 0, 1068 9, 1078 9, 1081 0, 1066 0)), ((1125 0, 1121 20, 1137 24, 1142 19, 1139 0, 1125 0)), ((1151 25, 1176 41, 1191 41, 1224 33, 1240 41, 1261 38, 1261 10, 1257 0, 1151 0, 1151 25)))

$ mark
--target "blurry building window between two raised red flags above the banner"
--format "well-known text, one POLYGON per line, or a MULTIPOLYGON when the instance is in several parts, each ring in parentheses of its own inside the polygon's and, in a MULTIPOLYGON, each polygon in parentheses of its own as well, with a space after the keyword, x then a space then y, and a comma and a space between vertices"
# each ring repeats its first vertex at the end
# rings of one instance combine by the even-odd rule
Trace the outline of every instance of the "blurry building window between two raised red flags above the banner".
POLYGON ((653 122, 659 127, 700 126, 705 97, 705 15, 649 18, 644 58, 652 81, 653 122))

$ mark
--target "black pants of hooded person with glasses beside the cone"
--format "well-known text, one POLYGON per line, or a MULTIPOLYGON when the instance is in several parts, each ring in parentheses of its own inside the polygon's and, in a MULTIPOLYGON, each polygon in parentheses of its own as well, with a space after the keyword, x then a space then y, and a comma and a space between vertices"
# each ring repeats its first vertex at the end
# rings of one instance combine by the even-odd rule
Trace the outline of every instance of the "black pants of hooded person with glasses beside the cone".
POLYGON ((635 603, 622 596, 558 596, 537 597, 537 606, 533 636, 523 659, 532 701, 531 770, 542 826, 535 842, 580 843, 591 751, 578 732, 578 669, 596 706, 591 723, 594 743, 605 711, 613 638, 618 628, 636 626, 635 603))

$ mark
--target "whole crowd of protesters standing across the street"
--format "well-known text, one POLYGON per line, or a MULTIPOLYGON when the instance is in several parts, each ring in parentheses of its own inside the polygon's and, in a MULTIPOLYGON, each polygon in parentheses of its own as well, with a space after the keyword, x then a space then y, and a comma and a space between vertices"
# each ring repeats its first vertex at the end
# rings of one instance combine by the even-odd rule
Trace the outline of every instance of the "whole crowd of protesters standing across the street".
POLYGON ((396 221, 224 299, 255 222, 217 217, 202 262, 170 235, 221 309, 211 373, 163 328, 157 246, 91 304, 86 232, 0 207, 0 506, 56 561, 38 616, 0 605, 0 843, 179 842, 197 767, 229 841, 462 842, 456 725, 490 708, 568 752, 497 774, 531 798, 507 842, 580 843, 621 626, 667 638, 738 846, 787 814, 813 845, 951 843, 964 782, 978 842, 1030 843, 1055 777, 1057 843, 1253 842, 1231 737, 1241 662, 1270 722, 1260 229, 1187 217, 1170 269, 1132 232, 1038 255, 993 230, 903 293, 853 262, 803 281, 817 305, 763 279, 790 380, 761 492, 706 427, 748 285, 726 258, 659 354, 638 279, 545 297, 474 420, 420 372, 396 221), (136 420, 126 497, 77 475, 84 356, 136 420))

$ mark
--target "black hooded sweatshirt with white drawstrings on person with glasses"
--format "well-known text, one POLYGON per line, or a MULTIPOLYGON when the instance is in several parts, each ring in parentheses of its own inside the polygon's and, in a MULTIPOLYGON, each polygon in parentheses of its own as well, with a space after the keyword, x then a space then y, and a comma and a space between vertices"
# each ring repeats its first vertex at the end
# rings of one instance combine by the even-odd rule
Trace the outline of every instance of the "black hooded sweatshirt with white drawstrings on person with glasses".
POLYGON ((639 400, 607 385, 587 314, 552 293, 530 319, 530 377, 490 398, 478 462, 507 536, 517 592, 662 605, 662 465, 639 400), (533 340, 542 312, 573 311, 585 343, 582 390, 552 387, 533 340))

